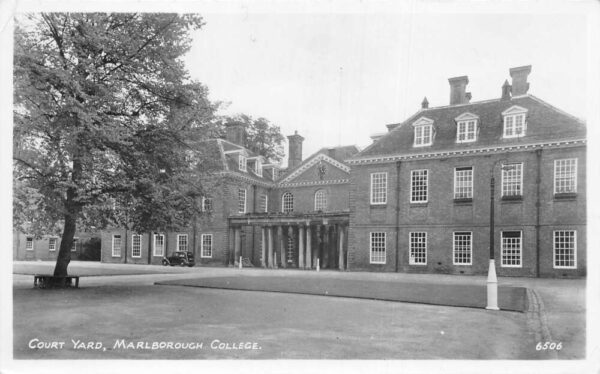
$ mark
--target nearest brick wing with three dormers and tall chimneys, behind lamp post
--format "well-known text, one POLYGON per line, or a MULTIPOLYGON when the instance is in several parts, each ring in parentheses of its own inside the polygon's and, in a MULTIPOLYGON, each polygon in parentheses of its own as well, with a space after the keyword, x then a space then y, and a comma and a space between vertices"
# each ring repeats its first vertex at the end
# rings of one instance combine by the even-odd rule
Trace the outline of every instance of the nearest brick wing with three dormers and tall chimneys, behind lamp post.
POLYGON ((348 268, 487 273, 586 272, 586 129, 528 93, 531 66, 510 69, 498 99, 470 102, 466 76, 450 105, 422 107, 348 161, 348 268))

